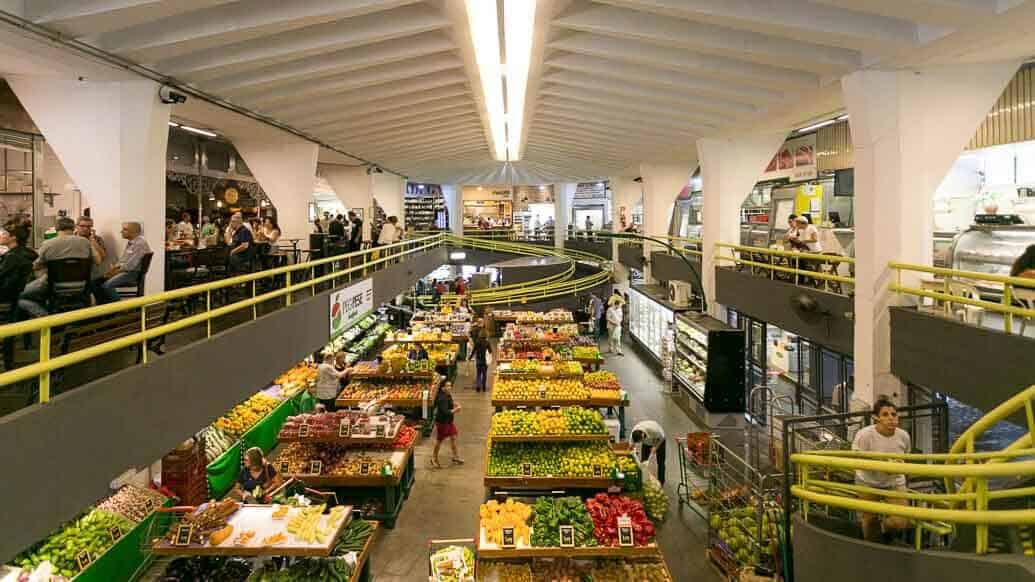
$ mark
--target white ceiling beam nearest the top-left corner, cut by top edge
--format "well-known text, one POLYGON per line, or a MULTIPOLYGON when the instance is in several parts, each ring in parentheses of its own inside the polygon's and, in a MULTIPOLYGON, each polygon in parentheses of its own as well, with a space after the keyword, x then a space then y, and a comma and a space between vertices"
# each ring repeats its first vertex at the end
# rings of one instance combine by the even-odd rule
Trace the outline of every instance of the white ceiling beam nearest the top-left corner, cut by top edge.
POLYGON ((238 0, 32 0, 26 18, 72 38, 139 26, 238 0))

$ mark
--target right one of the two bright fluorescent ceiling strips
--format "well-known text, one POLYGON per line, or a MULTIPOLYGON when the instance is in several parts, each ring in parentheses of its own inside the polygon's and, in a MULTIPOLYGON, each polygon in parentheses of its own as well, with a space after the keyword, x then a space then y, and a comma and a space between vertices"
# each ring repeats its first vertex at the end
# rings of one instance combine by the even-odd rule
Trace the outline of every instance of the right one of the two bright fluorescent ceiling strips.
POLYGON ((507 158, 521 159, 525 93, 532 61, 535 0, 503 0, 503 36, 507 50, 507 158))

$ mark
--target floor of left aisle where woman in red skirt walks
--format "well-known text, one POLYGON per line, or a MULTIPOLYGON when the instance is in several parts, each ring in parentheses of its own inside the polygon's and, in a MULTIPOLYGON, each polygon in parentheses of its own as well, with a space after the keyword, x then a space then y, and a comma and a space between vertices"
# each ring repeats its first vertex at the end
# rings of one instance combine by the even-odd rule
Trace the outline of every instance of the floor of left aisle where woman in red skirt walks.
MULTIPOLYGON (((490 378, 494 368, 490 367, 490 378)), ((434 435, 414 449, 417 475, 410 498, 395 529, 383 529, 374 547, 372 574, 378 582, 426 580, 428 540, 470 539, 477 531, 478 506, 485 495, 485 436, 493 408, 491 392, 475 392, 473 385, 474 362, 462 362, 453 400, 463 407, 456 414, 456 427, 460 454, 467 463, 449 466, 449 445, 443 443, 439 460, 444 468, 431 469, 434 435)))

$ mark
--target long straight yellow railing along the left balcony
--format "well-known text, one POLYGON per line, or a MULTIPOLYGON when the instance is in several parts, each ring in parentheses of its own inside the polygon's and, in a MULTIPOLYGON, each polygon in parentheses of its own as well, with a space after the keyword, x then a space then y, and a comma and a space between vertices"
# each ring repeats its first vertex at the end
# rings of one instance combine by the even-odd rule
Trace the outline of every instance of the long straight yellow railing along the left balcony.
POLYGON ((350 275, 351 273, 359 273, 360 277, 366 277, 368 272, 380 268, 381 265, 389 262, 396 262, 400 259, 414 253, 420 253, 434 249, 443 244, 445 238, 442 235, 405 240, 387 246, 357 251, 355 253, 328 257, 317 261, 299 263, 296 265, 249 274, 242 274, 239 277, 233 277, 202 285, 195 285, 173 291, 166 291, 162 293, 147 295, 145 297, 125 299, 114 303, 96 305, 3 325, 0 326, 0 339, 17 338, 23 334, 38 332, 40 347, 39 355, 35 363, 8 370, 0 374, 0 387, 37 378, 39 381, 39 402, 48 402, 50 400, 51 392, 51 374, 55 371, 134 346, 140 346, 143 360, 146 362, 147 343, 150 340, 200 324, 206 325, 207 336, 211 337, 211 322, 213 319, 246 309, 252 310, 253 318, 255 318, 258 315, 256 308, 260 303, 284 297, 286 304, 290 305, 293 300, 293 295, 300 291, 308 290, 312 295, 315 295, 317 286, 323 283, 333 282, 345 275, 350 275), (327 265, 328 267, 333 268, 335 264, 346 264, 348 266, 337 270, 332 270, 326 274, 317 275, 318 267, 327 265), (282 275, 284 277, 284 285, 282 287, 264 293, 258 292, 258 283, 260 281, 273 280, 273 278, 282 275), (304 280, 302 280, 303 275, 304 280), (238 301, 229 302, 228 304, 218 308, 212 307, 213 293, 218 294, 223 291, 229 292, 229 290, 237 287, 246 287, 250 292, 250 296, 238 301), (205 309, 203 312, 154 327, 147 326, 147 310, 149 307, 162 302, 169 303, 178 300, 185 301, 191 298, 204 298, 205 309), (140 313, 139 331, 88 348, 58 356, 52 356, 51 340, 56 330, 71 324, 98 321, 100 318, 111 318, 134 312, 140 313))

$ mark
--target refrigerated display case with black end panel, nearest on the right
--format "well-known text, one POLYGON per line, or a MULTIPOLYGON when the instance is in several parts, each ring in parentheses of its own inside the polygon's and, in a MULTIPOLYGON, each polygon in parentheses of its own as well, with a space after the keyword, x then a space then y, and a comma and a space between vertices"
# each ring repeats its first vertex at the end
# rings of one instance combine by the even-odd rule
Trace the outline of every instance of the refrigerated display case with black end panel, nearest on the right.
POLYGON ((742 412, 744 331, 699 313, 675 322, 676 380, 710 412, 742 412))

